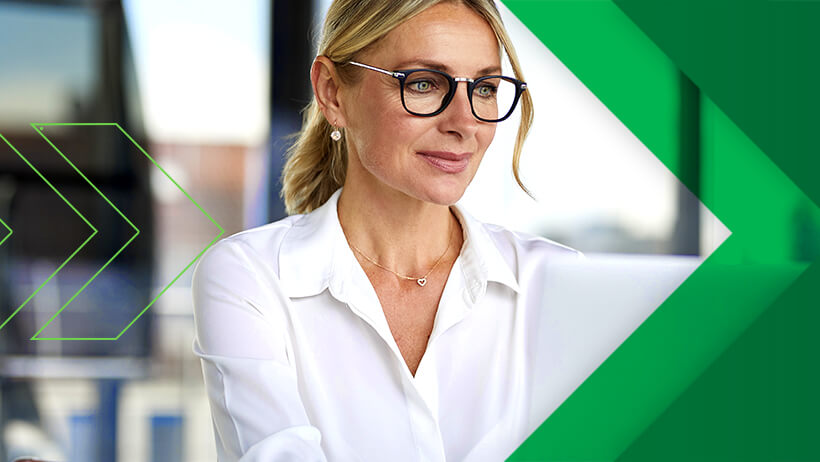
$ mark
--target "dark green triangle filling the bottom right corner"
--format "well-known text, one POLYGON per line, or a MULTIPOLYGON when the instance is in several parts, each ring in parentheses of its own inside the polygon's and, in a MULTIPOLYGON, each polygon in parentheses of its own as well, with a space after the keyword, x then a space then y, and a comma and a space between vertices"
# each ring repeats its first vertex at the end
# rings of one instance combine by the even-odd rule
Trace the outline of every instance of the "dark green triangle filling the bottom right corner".
POLYGON ((618 460, 820 460, 818 277, 815 263, 618 460))

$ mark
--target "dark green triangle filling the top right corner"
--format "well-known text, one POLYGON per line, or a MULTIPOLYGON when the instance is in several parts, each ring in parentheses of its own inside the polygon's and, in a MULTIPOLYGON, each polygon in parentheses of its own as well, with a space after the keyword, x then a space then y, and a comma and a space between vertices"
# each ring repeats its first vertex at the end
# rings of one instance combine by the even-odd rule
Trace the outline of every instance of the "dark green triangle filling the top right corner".
POLYGON ((616 3, 820 205, 820 2, 616 3))

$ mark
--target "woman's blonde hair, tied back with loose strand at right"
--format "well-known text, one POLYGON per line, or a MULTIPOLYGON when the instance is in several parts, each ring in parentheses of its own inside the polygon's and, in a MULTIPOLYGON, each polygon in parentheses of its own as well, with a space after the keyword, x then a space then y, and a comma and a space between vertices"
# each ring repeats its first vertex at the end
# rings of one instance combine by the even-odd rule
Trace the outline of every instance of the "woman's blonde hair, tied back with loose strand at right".
MULTIPOLYGON (((515 49, 493 0, 334 0, 325 18, 318 54, 335 63, 346 63, 393 28, 444 2, 461 3, 483 17, 506 51, 515 77, 524 80, 515 49)), ((339 78, 345 82, 355 81, 357 69, 350 67, 353 66, 336 67, 339 78)), ((532 125, 532 112, 532 98, 529 91, 525 91, 521 95, 521 124, 515 140, 512 170, 516 182, 528 194, 521 182, 518 165, 524 139, 532 125)), ((314 96, 305 108, 302 130, 288 149, 282 170, 282 197, 289 214, 316 209, 344 184, 347 146, 331 140, 332 130, 314 96)))

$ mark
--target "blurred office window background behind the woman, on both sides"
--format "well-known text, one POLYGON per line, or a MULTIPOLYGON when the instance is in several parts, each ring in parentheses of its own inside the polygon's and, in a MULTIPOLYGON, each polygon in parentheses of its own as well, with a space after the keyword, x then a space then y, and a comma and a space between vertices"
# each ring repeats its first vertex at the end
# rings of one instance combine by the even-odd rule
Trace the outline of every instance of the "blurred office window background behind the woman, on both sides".
MULTIPOLYGON (((190 264, 214 221, 227 236, 285 216, 284 137, 328 4, 0 1, 0 459, 216 459, 190 264)), ((511 119, 465 207, 586 253, 709 255, 730 231, 698 191, 500 8, 535 99, 521 171, 536 200, 511 174, 511 119)), ((707 184, 708 109, 668 79, 669 142, 707 184)), ((818 252, 808 210, 785 211, 796 260, 818 252)))

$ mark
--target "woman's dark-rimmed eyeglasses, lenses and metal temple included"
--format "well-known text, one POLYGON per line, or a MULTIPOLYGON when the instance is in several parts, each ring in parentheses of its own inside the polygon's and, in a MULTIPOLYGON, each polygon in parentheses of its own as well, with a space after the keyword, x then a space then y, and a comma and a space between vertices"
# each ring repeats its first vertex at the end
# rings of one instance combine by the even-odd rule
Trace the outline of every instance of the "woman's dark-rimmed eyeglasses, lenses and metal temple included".
POLYGON ((509 117, 527 84, 512 77, 487 75, 477 79, 452 77, 434 69, 388 71, 367 64, 348 61, 347 64, 387 74, 401 84, 404 110, 421 117, 440 114, 456 94, 459 82, 467 82, 467 98, 473 115, 483 122, 501 122, 509 117))

